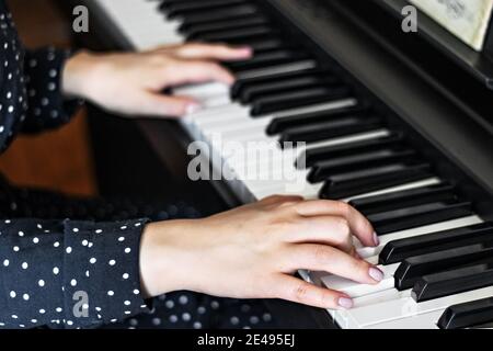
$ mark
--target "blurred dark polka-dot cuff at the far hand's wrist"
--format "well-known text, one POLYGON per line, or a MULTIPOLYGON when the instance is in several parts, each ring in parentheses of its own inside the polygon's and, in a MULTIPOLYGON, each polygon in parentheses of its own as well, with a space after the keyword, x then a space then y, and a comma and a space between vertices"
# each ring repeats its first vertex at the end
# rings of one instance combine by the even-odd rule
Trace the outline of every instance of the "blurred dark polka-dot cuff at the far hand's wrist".
POLYGON ((27 112, 22 132, 56 128, 70 121, 79 100, 67 100, 61 92, 61 76, 68 50, 43 48, 27 50, 24 78, 27 91, 27 112))

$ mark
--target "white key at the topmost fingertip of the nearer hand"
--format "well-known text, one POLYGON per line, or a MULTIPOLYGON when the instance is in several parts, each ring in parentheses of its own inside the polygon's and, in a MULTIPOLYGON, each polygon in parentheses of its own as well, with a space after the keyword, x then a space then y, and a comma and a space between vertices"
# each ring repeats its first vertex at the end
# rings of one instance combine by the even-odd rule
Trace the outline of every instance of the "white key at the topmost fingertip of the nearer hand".
MULTIPOLYGON (((355 242, 358 254, 362 258, 374 257, 380 254, 389 242, 393 240, 401 240, 406 238, 421 237, 428 234, 445 231, 449 229, 456 229, 466 226, 472 226, 477 224, 481 224, 483 220, 477 215, 468 216, 463 218, 445 220, 440 223, 435 223, 432 225, 426 225, 417 228, 400 230, 397 233, 387 234, 380 237, 380 245, 376 248, 364 248, 359 242, 355 242)), ((433 251, 432 251, 433 252, 433 251)), ((390 264, 390 263, 389 263, 390 264)))

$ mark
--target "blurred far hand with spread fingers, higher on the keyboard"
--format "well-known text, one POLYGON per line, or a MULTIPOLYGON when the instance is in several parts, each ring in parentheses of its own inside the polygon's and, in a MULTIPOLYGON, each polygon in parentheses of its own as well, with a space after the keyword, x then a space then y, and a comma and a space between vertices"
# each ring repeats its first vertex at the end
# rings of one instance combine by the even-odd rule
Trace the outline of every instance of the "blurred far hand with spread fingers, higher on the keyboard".
POLYGON ((182 116, 199 109, 190 97, 169 97, 167 88, 219 81, 231 84, 233 76, 214 60, 242 60, 250 48, 186 44, 145 53, 91 54, 69 59, 62 87, 67 95, 90 100, 123 115, 182 116))

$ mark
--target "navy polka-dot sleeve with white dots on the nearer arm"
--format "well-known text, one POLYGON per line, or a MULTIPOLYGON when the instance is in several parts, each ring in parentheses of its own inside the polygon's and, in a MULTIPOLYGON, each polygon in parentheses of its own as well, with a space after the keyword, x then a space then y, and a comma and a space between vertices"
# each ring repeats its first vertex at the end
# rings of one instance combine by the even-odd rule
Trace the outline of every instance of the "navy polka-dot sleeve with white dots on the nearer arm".
POLYGON ((148 312, 140 292, 146 220, 0 224, 0 328, 95 328, 148 312))

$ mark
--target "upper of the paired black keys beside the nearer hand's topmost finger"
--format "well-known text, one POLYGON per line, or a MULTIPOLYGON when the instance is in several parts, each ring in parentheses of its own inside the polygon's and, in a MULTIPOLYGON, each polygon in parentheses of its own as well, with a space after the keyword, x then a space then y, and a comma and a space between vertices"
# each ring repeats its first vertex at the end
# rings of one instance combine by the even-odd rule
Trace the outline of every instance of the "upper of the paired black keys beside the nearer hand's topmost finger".
POLYGON ((353 200, 349 204, 365 215, 387 212, 395 208, 417 206, 437 201, 456 200, 454 186, 437 184, 404 190, 389 194, 353 200))

